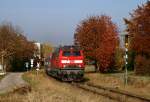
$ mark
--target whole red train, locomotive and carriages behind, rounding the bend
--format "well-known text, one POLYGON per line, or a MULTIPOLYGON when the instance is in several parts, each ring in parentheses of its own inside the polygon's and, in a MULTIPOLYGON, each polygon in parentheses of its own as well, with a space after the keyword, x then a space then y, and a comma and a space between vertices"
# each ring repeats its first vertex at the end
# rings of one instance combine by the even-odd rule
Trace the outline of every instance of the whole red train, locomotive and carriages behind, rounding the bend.
POLYGON ((56 48, 46 59, 46 73, 62 81, 82 81, 84 77, 84 55, 79 46, 56 48))

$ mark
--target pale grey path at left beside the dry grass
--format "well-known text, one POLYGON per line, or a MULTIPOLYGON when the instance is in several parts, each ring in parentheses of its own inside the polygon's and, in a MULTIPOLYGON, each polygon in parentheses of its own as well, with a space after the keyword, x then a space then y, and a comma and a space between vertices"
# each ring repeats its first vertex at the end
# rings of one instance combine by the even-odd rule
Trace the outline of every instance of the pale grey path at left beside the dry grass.
POLYGON ((23 73, 9 73, 0 81, 0 94, 11 92, 17 88, 27 85, 22 79, 23 73))

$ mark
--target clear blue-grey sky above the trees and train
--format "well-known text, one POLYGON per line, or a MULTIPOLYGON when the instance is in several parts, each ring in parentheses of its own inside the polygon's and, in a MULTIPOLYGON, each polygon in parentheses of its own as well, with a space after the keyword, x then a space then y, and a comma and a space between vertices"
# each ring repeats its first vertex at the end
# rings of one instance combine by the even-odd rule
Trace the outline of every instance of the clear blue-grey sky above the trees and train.
POLYGON ((124 29, 122 18, 147 0, 0 0, 0 23, 20 26, 30 40, 72 44, 77 24, 107 14, 124 29))

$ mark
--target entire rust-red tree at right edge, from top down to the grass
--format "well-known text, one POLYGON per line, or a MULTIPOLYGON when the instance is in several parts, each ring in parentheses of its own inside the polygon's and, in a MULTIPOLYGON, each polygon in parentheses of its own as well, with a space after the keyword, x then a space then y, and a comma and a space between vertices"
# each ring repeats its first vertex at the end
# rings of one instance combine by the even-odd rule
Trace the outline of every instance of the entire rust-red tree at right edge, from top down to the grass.
POLYGON ((136 54, 135 72, 150 75, 150 1, 138 6, 130 15, 125 23, 130 35, 130 48, 136 54))

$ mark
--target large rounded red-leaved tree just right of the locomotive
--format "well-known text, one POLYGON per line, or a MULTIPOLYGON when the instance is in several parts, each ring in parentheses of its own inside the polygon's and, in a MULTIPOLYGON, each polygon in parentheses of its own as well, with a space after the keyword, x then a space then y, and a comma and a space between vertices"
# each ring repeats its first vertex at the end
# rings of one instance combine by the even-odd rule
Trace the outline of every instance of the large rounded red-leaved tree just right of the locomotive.
POLYGON ((118 29, 111 17, 89 17, 77 26, 75 34, 76 42, 83 48, 86 57, 95 60, 96 68, 104 72, 113 67, 118 29))

